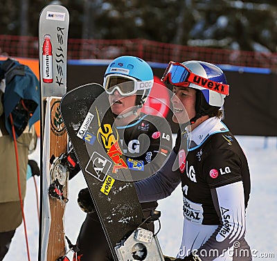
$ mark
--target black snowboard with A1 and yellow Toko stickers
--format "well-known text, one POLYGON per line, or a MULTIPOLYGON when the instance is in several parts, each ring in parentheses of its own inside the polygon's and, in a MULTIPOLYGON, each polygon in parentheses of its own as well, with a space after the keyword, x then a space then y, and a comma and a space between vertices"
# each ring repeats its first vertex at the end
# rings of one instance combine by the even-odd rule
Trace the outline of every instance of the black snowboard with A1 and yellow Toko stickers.
POLYGON ((103 87, 95 83, 77 87, 63 96, 60 106, 114 260, 163 260, 157 237, 142 225, 134 177, 118 143, 103 87))

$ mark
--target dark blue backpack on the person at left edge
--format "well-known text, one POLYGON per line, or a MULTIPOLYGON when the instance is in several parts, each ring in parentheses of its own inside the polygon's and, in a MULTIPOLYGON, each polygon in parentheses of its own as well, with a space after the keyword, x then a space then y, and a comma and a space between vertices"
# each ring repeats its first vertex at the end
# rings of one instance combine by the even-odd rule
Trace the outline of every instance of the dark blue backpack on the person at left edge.
POLYGON ((6 88, 1 102, 5 127, 12 136, 12 123, 19 137, 29 123, 31 127, 40 115, 40 89, 37 77, 24 64, 8 58, 0 61, 0 81, 5 79, 6 88), (11 117, 12 116, 12 122, 11 117))

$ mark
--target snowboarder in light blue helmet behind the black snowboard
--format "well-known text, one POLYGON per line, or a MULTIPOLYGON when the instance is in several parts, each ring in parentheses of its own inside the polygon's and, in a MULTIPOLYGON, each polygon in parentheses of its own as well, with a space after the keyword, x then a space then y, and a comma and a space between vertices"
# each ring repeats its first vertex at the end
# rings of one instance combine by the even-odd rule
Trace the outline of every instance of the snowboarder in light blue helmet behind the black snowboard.
MULTIPOLYGON (((152 174, 159 169, 159 161, 162 165, 172 149, 171 132, 164 132, 170 137, 170 144, 166 150, 161 150, 158 125, 165 125, 166 119, 158 116, 146 115, 141 108, 148 98, 153 86, 154 76, 147 62, 139 57, 121 56, 113 60, 104 75, 103 86, 109 95, 111 111, 114 114, 115 125, 118 132, 120 144, 126 156, 126 162, 130 172, 136 172, 139 176, 150 166, 152 174), (157 123, 157 124, 156 124, 157 123), (143 135, 141 135, 143 134, 143 135), (157 134, 157 136, 155 136, 157 134), (144 136, 150 143, 143 143, 139 136, 144 136), (145 145, 147 145, 145 147, 145 145), (168 151, 164 154, 161 151, 168 151), (161 160, 161 161, 160 161, 161 160), (139 165, 133 164, 139 163, 139 165)), ((164 147, 163 147, 164 148, 164 147)), ((78 260, 81 261, 105 261, 114 260, 109 251, 104 231, 94 209, 89 191, 84 188, 80 190, 78 204, 87 212, 78 236, 77 245, 78 260)), ((148 201, 141 204, 145 218, 150 211, 157 207, 157 201, 148 201)), ((148 228, 154 231, 153 224, 148 228)))

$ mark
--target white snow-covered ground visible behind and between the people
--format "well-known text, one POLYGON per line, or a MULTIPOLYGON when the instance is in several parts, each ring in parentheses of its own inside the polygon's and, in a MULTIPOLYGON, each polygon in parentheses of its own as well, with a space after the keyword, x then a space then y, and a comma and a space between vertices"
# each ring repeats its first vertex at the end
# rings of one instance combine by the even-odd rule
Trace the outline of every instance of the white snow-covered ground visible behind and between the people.
MULTIPOLYGON (((247 210, 247 240, 253 249, 253 260, 277 260, 277 138, 267 139, 258 136, 238 136, 249 160, 251 170, 251 197, 247 210)), ((39 145, 30 155, 39 162, 39 145)), ((36 178, 39 184, 39 178, 36 178)), ((69 203, 66 206, 66 235, 75 242, 84 213, 77 204, 80 188, 85 187, 82 175, 74 178, 74 184, 69 184, 69 203)), ((37 219, 35 186, 33 179, 27 182, 25 214, 28 229, 30 260, 37 260, 39 222, 37 219)), ((181 242, 182 231, 182 199, 181 188, 178 187, 167 199, 159 201, 161 210, 161 231, 158 234, 163 253, 176 255, 181 242)), ((8 218, 8 217, 7 217, 8 218)), ((158 226, 158 224, 157 224, 158 226)), ((23 225, 17 228, 10 245, 10 251, 4 261, 28 260, 23 225)))

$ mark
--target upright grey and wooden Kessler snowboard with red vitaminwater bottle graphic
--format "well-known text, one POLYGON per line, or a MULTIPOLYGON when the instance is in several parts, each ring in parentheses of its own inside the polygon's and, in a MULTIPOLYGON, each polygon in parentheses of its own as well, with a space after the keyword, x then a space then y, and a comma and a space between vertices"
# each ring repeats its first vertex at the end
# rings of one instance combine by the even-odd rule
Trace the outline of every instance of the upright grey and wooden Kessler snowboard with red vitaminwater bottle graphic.
POLYGON ((39 260, 54 261, 66 253, 64 210, 68 171, 60 164, 68 138, 60 100, 66 93, 66 53, 69 12, 46 6, 39 15, 39 82, 41 87, 41 200, 39 260))

